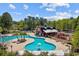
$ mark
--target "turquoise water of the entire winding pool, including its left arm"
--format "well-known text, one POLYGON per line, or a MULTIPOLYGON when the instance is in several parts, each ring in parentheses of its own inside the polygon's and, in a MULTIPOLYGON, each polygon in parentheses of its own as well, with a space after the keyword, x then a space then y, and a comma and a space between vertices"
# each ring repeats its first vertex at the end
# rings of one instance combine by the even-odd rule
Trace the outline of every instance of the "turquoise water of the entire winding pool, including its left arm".
MULTIPOLYGON (((25 50, 29 51, 50 51, 50 50, 55 50, 56 46, 54 44, 48 43, 45 41, 44 38, 38 38, 38 37, 32 37, 32 36, 27 36, 23 35, 22 37, 24 38, 33 38, 34 42, 26 45, 24 48, 25 50)), ((3 37, 0 38, 0 42, 8 42, 9 40, 13 40, 16 38, 21 38, 21 36, 8 36, 8 37, 3 37)))

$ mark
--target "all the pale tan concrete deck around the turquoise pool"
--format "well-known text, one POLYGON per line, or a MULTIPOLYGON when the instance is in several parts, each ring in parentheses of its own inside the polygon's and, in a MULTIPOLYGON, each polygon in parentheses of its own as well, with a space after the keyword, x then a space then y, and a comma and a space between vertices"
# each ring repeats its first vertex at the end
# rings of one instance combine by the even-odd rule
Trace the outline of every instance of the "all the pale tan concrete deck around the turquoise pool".
MULTIPOLYGON (((30 36, 33 35, 33 36, 35 37, 34 33, 29 33, 29 35, 30 35, 30 36)), ((14 39, 14 40, 17 40, 17 39, 14 39)), ((56 52, 58 52, 58 51, 67 52, 67 50, 68 50, 68 47, 65 46, 64 44, 62 44, 62 42, 56 42, 54 39, 51 39, 51 38, 45 38, 45 41, 48 42, 48 43, 51 43, 51 44, 56 45, 56 49, 55 49, 55 50, 49 51, 50 54, 56 53, 56 52)), ((22 51, 22 50, 24 50, 24 46, 25 46, 25 45, 27 45, 27 44, 29 44, 29 43, 32 43, 32 42, 34 42, 34 39, 32 39, 32 38, 26 38, 26 41, 25 41, 25 42, 19 43, 19 44, 13 43, 12 41, 10 41, 10 42, 8 43, 8 49, 7 49, 7 51, 10 51, 10 52, 11 52, 11 50, 12 50, 13 52, 22 51), (12 46, 12 48, 11 48, 11 46, 12 46)), ((35 55, 38 55, 38 54, 41 53, 41 52, 38 53, 39 51, 29 51, 29 52, 31 52, 31 53, 33 53, 33 54, 35 54, 35 55)), ((50 54, 49 54, 49 55, 50 55, 50 54)))

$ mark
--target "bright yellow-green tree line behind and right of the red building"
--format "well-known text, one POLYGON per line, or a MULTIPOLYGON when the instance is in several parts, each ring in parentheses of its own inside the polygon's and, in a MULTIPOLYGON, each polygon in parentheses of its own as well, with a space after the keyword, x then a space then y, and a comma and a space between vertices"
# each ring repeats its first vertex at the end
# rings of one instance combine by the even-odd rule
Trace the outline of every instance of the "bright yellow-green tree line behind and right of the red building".
POLYGON ((59 19, 56 21, 49 21, 49 26, 56 27, 61 31, 68 30, 68 31, 75 31, 79 30, 79 16, 77 18, 67 18, 67 19, 59 19))

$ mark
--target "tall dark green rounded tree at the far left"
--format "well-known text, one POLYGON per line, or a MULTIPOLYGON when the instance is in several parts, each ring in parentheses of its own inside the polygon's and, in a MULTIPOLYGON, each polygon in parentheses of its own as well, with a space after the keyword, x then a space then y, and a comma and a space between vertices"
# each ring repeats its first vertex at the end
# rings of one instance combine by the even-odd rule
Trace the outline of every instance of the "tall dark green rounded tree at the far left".
POLYGON ((3 13, 1 17, 1 26, 4 32, 8 31, 12 26, 12 17, 8 12, 3 13))

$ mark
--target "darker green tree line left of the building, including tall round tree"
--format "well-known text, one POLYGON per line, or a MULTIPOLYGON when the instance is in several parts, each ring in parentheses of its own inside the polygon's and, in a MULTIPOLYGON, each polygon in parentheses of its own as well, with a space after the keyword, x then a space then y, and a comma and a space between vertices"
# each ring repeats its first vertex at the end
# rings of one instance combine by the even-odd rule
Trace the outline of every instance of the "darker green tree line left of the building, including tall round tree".
POLYGON ((43 26, 47 23, 47 19, 42 17, 28 16, 20 21, 13 21, 8 12, 0 16, 0 32, 8 33, 10 30, 34 30, 37 26, 43 26))

